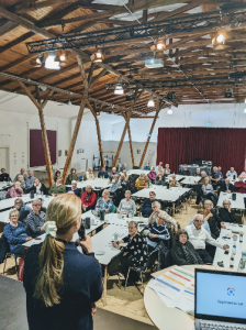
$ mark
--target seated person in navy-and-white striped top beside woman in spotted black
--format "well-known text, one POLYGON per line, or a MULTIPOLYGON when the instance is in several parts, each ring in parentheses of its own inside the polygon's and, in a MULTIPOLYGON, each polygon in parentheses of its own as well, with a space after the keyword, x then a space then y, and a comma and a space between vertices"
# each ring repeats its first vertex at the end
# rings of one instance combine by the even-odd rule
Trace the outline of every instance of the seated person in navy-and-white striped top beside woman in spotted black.
POLYGON ((156 249, 160 240, 170 240, 169 231, 165 224, 165 216, 159 213, 156 221, 146 231, 146 241, 148 244, 148 252, 156 249))

